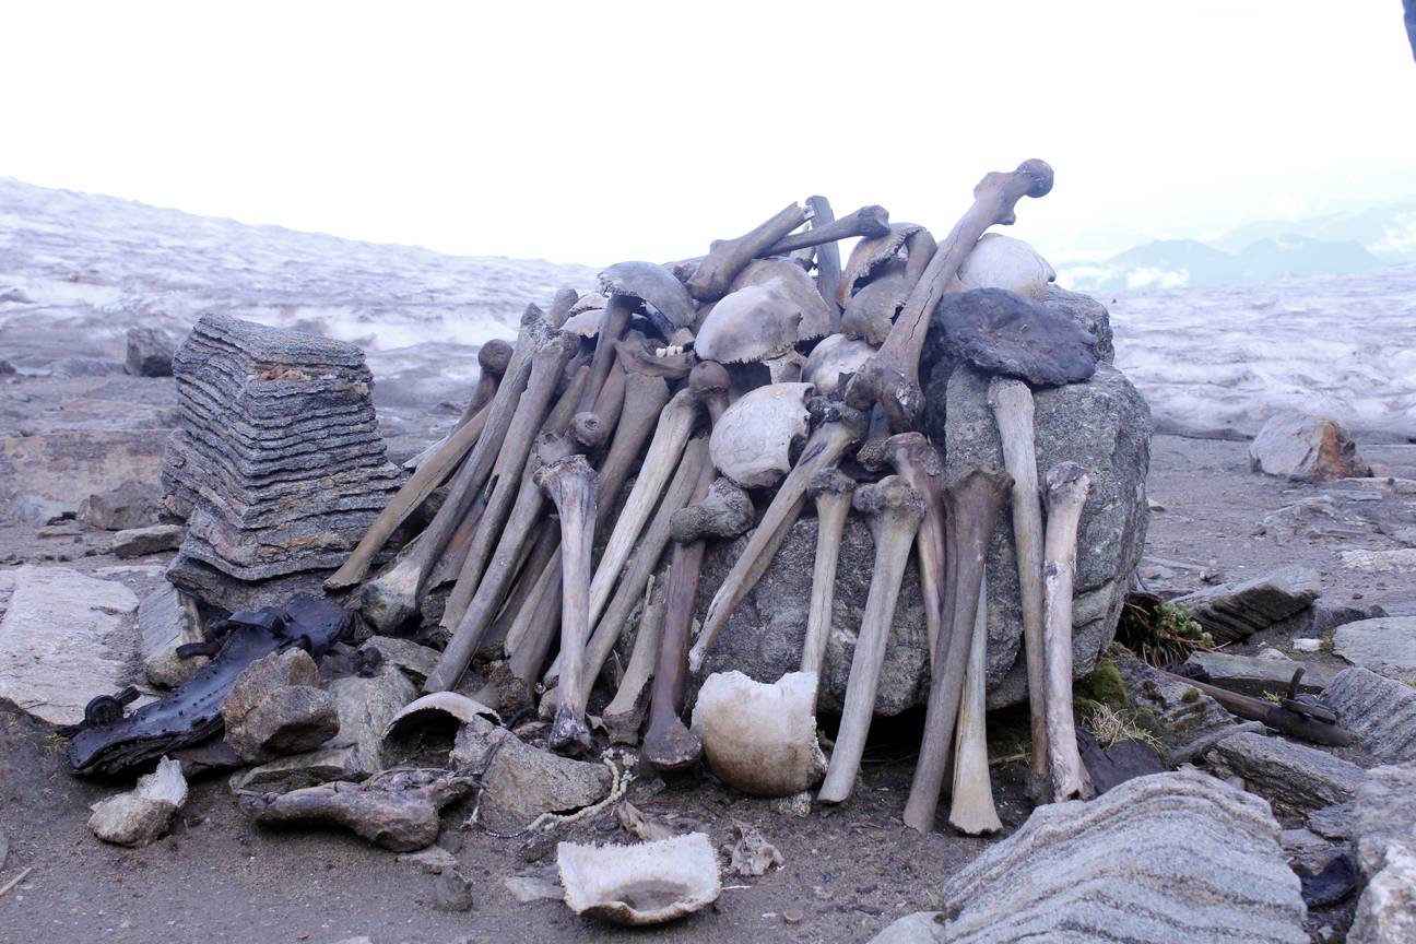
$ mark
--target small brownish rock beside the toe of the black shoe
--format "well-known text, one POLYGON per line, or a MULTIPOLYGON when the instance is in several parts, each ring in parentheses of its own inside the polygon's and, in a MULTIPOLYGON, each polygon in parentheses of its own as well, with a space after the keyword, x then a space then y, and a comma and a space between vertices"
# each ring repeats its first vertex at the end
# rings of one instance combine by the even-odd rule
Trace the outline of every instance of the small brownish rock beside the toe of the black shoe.
POLYGON ((340 730, 340 712, 320 689, 304 650, 272 652, 246 667, 221 706, 227 744, 252 763, 319 747, 340 730))

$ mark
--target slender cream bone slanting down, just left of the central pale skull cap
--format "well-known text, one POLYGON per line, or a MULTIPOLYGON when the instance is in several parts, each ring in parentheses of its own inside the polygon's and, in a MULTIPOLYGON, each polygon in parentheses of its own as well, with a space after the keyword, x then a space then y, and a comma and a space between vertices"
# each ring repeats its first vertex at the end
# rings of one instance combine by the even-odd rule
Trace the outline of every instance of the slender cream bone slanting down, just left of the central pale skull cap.
MULTIPOLYGON (((634 477, 634 487, 615 521, 615 529, 610 532, 610 539, 605 545, 600 565, 590 583, 589 617, 592 623, 599 620, 605 604, 609 603, 620 570, 634 548, 634 541, 654 511, 654 505, 663 497, 670 476, 678 467, 678 460, 684 454, 684 446, 688 444, 688 434, 697 419, 698 403, 688 388, 678 391, 658 415, 658 425, 654 427, 654 439, 649 444, 644 464, 640 466, 639 476, 634 477)), ((607 501, 613 501, 613 495, 606 495, 607 501)))

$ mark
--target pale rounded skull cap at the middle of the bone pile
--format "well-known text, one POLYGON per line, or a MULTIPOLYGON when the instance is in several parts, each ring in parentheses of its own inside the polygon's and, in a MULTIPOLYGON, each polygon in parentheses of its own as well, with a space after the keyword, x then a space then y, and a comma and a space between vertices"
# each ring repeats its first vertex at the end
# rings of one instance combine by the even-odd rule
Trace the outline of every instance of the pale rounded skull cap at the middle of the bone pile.
POLYGON ((743 488, 777 484, 792 471, 792 446, 810 432, 810 384, 769 384, 743 393, 714 425, 712 463, 743 488))

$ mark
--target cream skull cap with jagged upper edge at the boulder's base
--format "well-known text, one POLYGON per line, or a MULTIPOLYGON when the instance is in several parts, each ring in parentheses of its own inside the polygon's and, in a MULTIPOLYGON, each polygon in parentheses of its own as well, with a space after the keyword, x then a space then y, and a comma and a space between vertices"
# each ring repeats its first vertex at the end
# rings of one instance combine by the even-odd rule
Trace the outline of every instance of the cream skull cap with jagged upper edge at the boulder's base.
POLYGON ((790 797, 826 773, 816 737, 816 675, 787 672, 767 685, 715 672, 694 705, 694 735, 718 780, 753 797, 790 797))

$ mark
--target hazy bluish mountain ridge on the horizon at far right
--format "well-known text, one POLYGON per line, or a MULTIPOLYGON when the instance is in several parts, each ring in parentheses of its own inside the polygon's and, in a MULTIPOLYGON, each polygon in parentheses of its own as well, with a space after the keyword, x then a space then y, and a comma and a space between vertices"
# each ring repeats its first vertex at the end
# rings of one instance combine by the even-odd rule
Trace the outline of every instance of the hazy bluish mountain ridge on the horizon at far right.
POLYGON ((1218 239, 1163 239, 1102 262, 1059 266, 1083 292, 1259 284, 1416 262, 1416 200, 1298 221, 1259 221, 1218 239))

